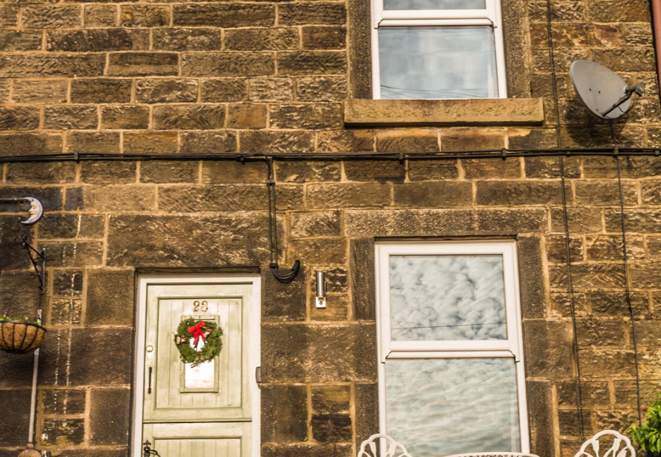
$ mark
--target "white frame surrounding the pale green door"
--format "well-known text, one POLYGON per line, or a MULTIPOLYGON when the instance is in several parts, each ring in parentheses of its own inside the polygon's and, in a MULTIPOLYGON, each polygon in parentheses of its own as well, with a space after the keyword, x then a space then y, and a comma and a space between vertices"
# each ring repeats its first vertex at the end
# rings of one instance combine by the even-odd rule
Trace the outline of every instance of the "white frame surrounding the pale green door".
POLYGON ((256 382, 255 373, 261 363, 261 277, 258 274, 247 273, 180 273, 180 274, 145 274, 139 275, 136 287, 136 319, 135 319, 135 343, 134 343, 134 376, 132 394, 132 427, 130 430, 130 456, 142 456, 142 419, 145 382, 145 353, 141 348, 145 347, 145 326, 147 325, 147 286, 153 284, 251 284, 253 286, 253 312, 251 313, 250 332, 251 348, 250 371, 251 379, 251 401, 252 428, 251 455, 260 455, 260 389, 256 382))

